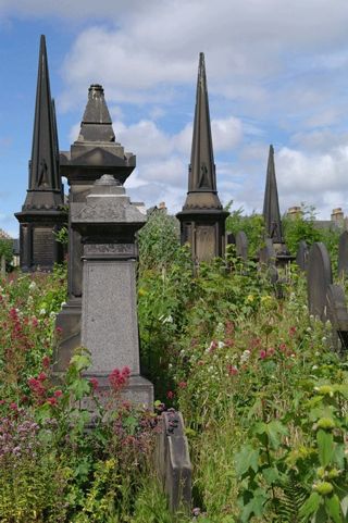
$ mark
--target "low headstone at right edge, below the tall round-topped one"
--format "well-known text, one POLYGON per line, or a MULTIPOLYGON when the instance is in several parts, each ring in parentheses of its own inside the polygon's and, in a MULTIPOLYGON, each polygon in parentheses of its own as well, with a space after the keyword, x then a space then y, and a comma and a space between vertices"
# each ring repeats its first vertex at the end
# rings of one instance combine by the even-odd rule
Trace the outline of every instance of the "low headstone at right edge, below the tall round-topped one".
POLYGON ((340 285, 328 285, 326 291, 326 319, 330 320, 333 326, 333 341, 336 349, 338 347, 338 339, 341 348, 348 349, 348 311, 346 296, 340 285))

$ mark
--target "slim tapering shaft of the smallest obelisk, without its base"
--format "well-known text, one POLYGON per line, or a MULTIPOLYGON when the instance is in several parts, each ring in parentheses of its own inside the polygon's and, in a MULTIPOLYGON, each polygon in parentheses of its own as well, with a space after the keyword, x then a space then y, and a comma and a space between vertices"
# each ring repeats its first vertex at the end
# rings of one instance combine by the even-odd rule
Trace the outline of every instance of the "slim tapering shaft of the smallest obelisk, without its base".
POLYGON ((279 211, 278 191, 276 187, 274 149, 270 146, 268 174, 265 179, 263 217, 265 232, 273 244, 284 244, 283 227, 279 211))

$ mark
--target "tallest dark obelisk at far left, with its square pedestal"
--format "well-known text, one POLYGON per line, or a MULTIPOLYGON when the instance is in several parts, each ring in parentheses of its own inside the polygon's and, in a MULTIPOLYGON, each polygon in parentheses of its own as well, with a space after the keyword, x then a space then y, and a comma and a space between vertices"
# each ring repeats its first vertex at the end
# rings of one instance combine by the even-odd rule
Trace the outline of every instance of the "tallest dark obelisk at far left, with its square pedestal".
POLYGON ((21 269, 51 270, 63 259, 58 231, 67 221, 59 175, 58 134, 51 99, 45 36, 41 35, 29 182, 20 222, 21 269))

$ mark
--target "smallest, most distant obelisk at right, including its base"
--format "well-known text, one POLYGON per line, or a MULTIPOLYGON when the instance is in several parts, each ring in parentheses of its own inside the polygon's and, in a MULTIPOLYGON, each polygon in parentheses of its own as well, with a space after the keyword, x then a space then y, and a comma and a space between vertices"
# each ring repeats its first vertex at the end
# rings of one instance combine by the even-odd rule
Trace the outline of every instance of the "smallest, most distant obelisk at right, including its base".
POLYGON ((276 186, 274 167, 274 149, 270 146, 268 172, 265 179, 265 190, 263 200, 263 219, 265 235, 273 242, 276 260, 279 264, 285 264, 293 259, 284 242, 283 225, 279 211, 278 190, 276 186))

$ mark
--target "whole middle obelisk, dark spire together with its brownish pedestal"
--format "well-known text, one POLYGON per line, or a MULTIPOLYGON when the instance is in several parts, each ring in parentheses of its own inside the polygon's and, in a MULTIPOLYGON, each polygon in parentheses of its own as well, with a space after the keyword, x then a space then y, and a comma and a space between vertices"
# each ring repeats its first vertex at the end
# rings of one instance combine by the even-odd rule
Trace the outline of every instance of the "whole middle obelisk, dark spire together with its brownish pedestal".
POLYGON ((182 212, 182 244, 189 242, 196 262, 221 257, 225 250, 224 211, 216 190, 216 174, 211 138, 204 54, 199 55, 196 112, 188 171, 188 192, 182 212))

